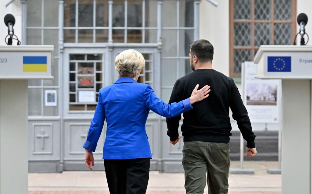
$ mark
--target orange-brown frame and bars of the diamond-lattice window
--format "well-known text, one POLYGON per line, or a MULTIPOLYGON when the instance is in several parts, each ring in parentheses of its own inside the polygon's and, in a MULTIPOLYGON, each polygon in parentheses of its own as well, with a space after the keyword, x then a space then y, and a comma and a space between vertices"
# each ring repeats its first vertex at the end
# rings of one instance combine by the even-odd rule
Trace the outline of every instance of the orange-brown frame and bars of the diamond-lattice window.
MULTIPOLYGON (((274 24, 287 23, 292 25, 291 30, 291 43, 296 35, 297 28, 297 0, 291 0, 291 20, 274 20, 274 0, 271 0, 271 20, 255 20, 255 0, 251 1, 251 20, 235 20, 234 19, 234 0, 229 1, 229 65, 230 65, 230 76, 231 77, 241 77, 241 74, 234 73, 234 50, 235 49, 247 49, 251 50, 251 60, 255 56, 255 50, 259 47, 255 46, 255 23, 269 23, 271 24, 271 44, 274 45, 274 24), (234 23, 251 23, 251 46, 234 46, 234 23)), ((244 62, 244 61, 241 61, 244 62)))

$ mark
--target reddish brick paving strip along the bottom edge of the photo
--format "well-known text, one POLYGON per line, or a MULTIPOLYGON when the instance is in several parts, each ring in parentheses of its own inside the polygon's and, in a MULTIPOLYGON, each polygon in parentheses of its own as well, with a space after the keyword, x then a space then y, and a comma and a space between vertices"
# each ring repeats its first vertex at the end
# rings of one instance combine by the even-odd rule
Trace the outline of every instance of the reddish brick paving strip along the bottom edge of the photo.
MULTIPOLYGON (((208 192, 205 192, 207 194, 208 192)), ((28 194, 110 194, 108 191, 29 191, 28 194)), ((185 194, 185 191, 147 191, 146 194, 185 194)), ((281 194, 281 192, 228 192, 228 194, 281 194)))

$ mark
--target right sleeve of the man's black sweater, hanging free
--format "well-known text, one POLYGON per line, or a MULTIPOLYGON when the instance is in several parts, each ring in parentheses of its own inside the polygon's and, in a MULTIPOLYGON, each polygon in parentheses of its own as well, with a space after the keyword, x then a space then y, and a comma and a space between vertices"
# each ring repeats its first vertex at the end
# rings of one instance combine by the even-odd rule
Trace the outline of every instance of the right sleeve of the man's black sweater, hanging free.
POLYGON ((252 132, 251 123, 248 117, 241 95, 236 87, 234 80, 231 79, 231 101, 230 108, 233 113, 233 119, 236 120, 239 130, 243 135, 243 138, 247 141, 246 147, 255 148, 255 134, 252 132))

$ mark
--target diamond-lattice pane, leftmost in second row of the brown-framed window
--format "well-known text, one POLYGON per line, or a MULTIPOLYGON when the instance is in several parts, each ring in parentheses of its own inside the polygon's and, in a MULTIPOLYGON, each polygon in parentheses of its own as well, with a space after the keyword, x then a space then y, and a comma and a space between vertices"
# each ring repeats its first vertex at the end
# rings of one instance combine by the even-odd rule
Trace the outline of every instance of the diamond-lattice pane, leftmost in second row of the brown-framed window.
POLYGON ((234 45, 235 46, 251 45, 251 23, 234 24, 234 45))

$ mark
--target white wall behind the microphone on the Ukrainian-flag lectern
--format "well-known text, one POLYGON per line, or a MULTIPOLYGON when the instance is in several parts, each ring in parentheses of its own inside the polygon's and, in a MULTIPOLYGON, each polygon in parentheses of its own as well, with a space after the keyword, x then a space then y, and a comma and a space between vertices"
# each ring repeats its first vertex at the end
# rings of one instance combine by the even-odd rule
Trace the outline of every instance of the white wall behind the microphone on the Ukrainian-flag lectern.
MULTIPOLYGON (((4 24, 4 16, 8 13, 15 17, 15 25, 13 27, 14 34, 18 39, 22 39, 22 5, 20 0, 15 0, 8 7, 5 4, 8 0, 0 1, 0 45, 6 45, 4 38, 7 36, 7 26, 4 24)), ((16 41, 13 40, 13 45, 16 45, 16 41)))

